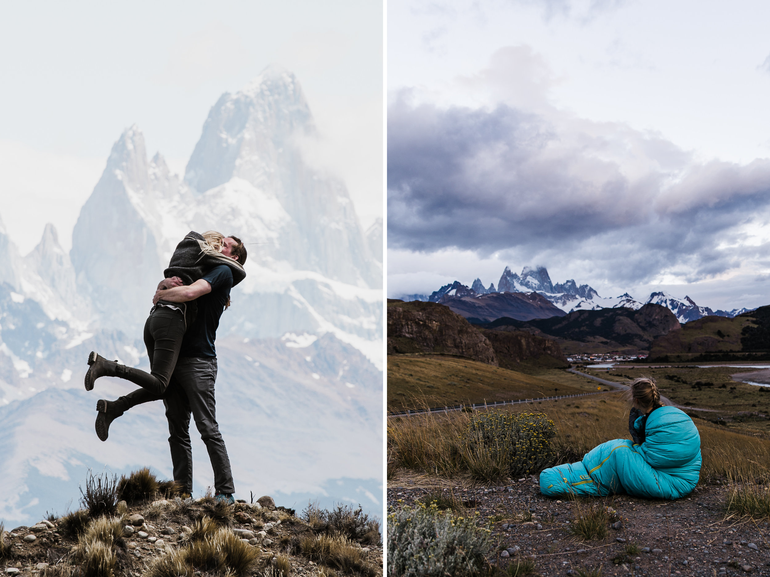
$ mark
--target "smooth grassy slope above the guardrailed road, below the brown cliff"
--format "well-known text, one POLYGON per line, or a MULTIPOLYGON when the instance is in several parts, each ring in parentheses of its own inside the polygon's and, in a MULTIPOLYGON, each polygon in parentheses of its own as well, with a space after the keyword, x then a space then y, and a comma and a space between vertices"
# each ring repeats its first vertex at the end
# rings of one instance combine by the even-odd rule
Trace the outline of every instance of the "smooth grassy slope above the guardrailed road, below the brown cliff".
POLYGON ((500 369, 470 359, 442 355, 390 355, 388 410, 417 406, 510 401, 595 391, 596 383, 560 369, 540 375, 500 369))

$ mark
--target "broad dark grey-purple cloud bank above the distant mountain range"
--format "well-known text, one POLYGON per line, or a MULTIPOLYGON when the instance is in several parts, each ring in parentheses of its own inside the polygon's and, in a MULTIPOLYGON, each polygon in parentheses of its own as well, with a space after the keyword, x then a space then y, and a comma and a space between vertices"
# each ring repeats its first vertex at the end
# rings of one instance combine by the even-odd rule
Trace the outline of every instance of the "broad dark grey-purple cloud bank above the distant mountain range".
POLYGON ((677 265, 701 278, 768 254, 742 245, 741 225, 770 215, 770 161, 700 165, 624 125, 549 118, 396 98, 390 248, 591 251, 628 280, 677 265))

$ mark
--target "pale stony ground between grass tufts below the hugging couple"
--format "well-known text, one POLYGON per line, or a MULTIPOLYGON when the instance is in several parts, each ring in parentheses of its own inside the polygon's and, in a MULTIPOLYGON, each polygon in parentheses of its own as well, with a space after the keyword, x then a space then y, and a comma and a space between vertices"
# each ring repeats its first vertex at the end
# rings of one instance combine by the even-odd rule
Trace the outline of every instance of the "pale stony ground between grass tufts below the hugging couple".
MULTIPOLYGON (((259 503, 236 502, 232 505, 232 521, 229 530, 249 545, 259 549, 259 559, 247 575, 263 575, 277 555, 290 560, 290 575, 333 575, 333 569, 318 565, 303 556, 300 540, 313 535, 318 527, 296 516, 291 509, 276 509, 267 497, 259 503)), ((203 499, 199 499, 202 502, 203 499)), ((176 502, 178 503, 178 501, 176 502)), ((120 506, 120 505, 119 505, 120 506)), ((116 575, 138 577, 149 571, 152 563, 175 549, 186 545, 191 532, 192 519, 196 517, 196 504, 179 512, 174 501, 160 500, 139 507, 128 508, 123 515, 126 528, 123 542, 117 545, 118 567, 116 575)), ((359 539, 360 541, 360 539, 359 539)), ((63 530, 62 520, 44 520, 32 527, 20 526, 5 532, 5 542, 11 545, 11 553, 0 559, 3 575, 66 575, 53 571, 56 565, 71 565, 77 539, 63 530)), ((373 575, 382 575, 382 545, 355 543, 373 575)), ((205 573, 196 572, 196 576, 205 573)))

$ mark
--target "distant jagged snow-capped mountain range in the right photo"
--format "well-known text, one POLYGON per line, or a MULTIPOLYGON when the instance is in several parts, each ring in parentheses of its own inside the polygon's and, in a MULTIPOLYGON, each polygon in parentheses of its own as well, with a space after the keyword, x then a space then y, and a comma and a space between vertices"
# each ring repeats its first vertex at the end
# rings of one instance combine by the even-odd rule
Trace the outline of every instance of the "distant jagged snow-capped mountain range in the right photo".
MULTIPOLYGON (((459 281, 455 281, 449 285, 442 286, 430 295, 403 295, 402 300, 449 304, 452 299, 479 299, 484 295, 505 292, 536 292, 544 297, 544 299, 550 301, 557 309, 561 309, 561 311, 566 313, 581 310, 617 309, 618 307, 638 310, 643 305, 653 303, 665 306, 671 310, 681 323, 695 321, 709 315, 732 318, 735 315, 752 310, 713 311, 708 307, 696 305, 688 296, 685 296, 685 299, 677 299, 666 292, 653 292, 644 302, 634 300, 628 292, 615 298, 603 299, 594 288, 591 288, 589 285, 577 285, 574 280, 554 284, 551 282, 547 269, 542 266, 534 268, 525 266, 521 271, 521 275, 512 272, 510 267, 505 267, 503 274, 500 275, 500 280, 497 282, 497 288, 494 288, 494 283, 484 288, 484 283, 481 282, 481 279, 476 278, 473 284, 470 285, 470 288, 459 281)), ((458 310, 457 312, 460 311, 458 310)), ((462 313, 460 312, 460 314, 462 313)))

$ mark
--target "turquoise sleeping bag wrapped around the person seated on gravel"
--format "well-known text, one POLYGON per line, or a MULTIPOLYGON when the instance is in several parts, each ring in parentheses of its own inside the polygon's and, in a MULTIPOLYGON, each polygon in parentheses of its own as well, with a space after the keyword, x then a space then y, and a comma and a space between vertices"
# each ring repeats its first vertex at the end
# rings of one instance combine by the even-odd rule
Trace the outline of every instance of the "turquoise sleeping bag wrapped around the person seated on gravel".
POLYGON ((540 474, 541 493, 679 499, 695 489, 701 472, 701 435, 692 419, 664 406, 648 415, 644 434, 641 445, 614 439, 591 449, 581 462, 545 469, 540 474))

